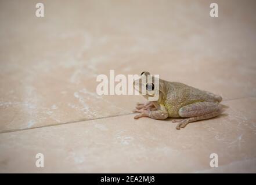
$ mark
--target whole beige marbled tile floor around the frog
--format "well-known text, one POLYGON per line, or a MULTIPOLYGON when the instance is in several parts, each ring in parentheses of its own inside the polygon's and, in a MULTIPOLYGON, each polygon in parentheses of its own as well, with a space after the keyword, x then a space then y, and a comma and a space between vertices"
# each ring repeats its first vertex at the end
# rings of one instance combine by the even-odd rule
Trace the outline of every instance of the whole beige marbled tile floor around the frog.
POLYGON ((0 172, 256 172, 255 1, 0 2, 0 172), (96 76, 150 71, 222 95, 177 131, 96 76), (43 153, 45 167, 35 166, 43 153), (211 168, 217 153, 219 167, 211 168))

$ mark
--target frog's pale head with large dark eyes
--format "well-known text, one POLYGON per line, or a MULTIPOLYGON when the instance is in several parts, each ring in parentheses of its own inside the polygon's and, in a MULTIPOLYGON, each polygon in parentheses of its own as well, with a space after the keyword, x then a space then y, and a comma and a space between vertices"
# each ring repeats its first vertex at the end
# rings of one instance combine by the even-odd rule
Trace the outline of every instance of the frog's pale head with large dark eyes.
POLYGON ((135 90, 149 101, 149 97, 154 97, 155 101, 160 102, 165 97, 164 87, 164 80, 150 75, 149 72, 142 72, 139 79, 134 80, 135 90))

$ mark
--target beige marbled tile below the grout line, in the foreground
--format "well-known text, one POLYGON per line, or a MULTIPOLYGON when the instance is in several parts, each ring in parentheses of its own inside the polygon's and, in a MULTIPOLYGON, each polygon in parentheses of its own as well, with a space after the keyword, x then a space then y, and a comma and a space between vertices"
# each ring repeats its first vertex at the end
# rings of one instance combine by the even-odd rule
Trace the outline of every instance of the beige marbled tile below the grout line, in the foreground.
POLYGON ((0 172, 256 172, 256 98, 223 105, 221 116, 181 130, 127 115, 3 133, 0 172), (37 153, 44 168, 35 166, 37 153))

